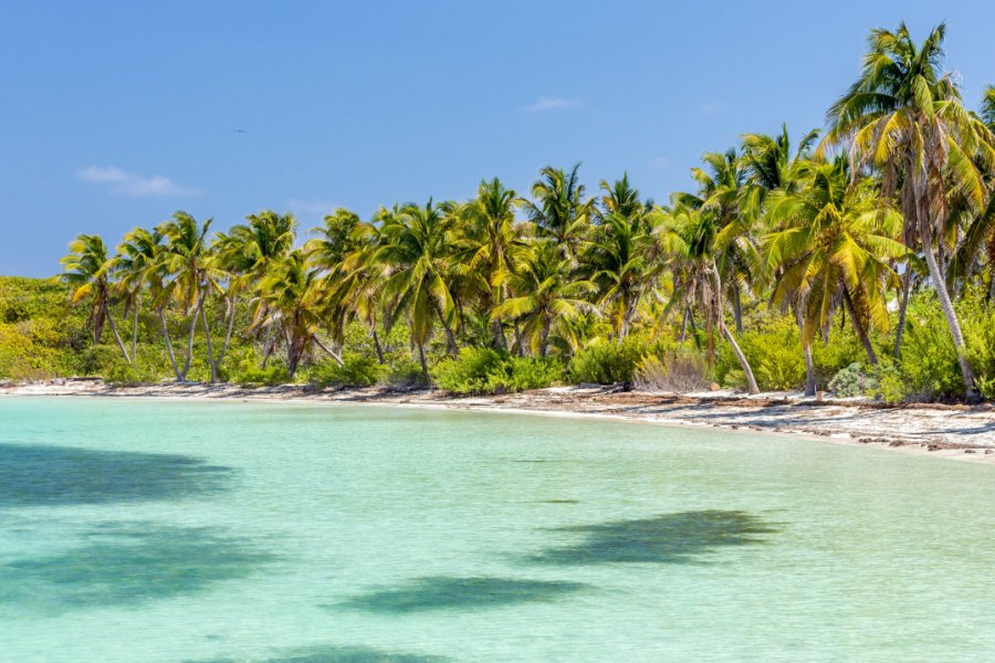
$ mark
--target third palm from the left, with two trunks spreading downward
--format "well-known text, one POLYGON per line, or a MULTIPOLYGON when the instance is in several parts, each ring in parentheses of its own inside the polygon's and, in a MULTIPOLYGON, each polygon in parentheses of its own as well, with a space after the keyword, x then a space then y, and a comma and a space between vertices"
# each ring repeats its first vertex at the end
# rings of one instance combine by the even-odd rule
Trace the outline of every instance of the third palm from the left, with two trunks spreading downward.
POLYGON ((190 329, 187 338, 187 356, 180 379, 186 380, 193 360, 193 336, 198 322, 203 326, 208 351, 208 365, 211 370, 211 382, 218 381, 218 367, 214 364, 211 346, 211 330, 203 312, 205 302, 211 291, 220 292, 217 276, 220 271, 216 266, 210 245, 211 220, 198 223, 186 212, 176 212, 170 221, 158 227, 166 239, 161 251, 163 265, 169 276, 167 291, 181 305, 185 313, 190 313, 190 329))

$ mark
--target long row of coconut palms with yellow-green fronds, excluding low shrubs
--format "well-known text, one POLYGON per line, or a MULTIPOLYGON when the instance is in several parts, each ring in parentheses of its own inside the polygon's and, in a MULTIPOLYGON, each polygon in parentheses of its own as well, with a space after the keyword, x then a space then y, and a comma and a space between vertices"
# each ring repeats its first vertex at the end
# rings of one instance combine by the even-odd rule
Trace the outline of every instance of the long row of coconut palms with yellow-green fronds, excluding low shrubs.
POLYGON ((980 112, 966 109, 942 70, 944 31, 918 45, 904 25, 873 31, 825 134, 744 135, 704 155, 692 170, 698 190, 667 204, 642 199, 625 176, 588 197, 574 166, 544 168, 528 197, 495 178, 464 202, 395 206, 369 220, 339 209, 303 244, 289 214, 266 211, 212 233, 210 221, 178 212, 128 233, 114 255, 81 235, 64 278, 74 299, 88 297, 94 338, 106 323, 129 362, 139 308, 155 313, 178 380, 198 330, 218 379, 242 306, 251 322, 239 333, 263 357, 282 349, 291 375, 316 351, 341 362, 355 323, 383 361, 380 334, 402 322, 423 371, 433 339, 450 354, 484 345, 569 356, 633 330, 679 327, 683 337, 690 325, 709 351, 724 339, 757 391, 736 336, 744 302, 769 299, 797 322, 809 392, 810 346, 835 316, 877 364, 871 333, 894 326, 900 355, 910 293, 929 286, 974 398, 953 299, 972 283, 995 299, 995 91, 980 112), (220 329, 206 313, 216 301, 220 329), (167 309, 187 323, 179 357, 167 309), (115 312, 133 316, 129 347, 115 312))

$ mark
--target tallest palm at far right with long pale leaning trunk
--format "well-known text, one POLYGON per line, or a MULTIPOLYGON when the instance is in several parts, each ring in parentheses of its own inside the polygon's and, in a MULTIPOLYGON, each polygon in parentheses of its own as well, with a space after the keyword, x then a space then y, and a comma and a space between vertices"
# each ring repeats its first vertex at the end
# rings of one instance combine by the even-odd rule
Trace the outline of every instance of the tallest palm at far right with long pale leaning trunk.
POLYGON ((894 32, 873 30, 860 77, 829 109, 829 131, 819 150, 848 146, 855 178, 866 166, 880 169, 884 204, 898 190, 907 236, 915 236, 921 245, 956 348, 966 398, 974 400, 974 371, 938 251, 949 235, 952 194, 963 196, 974 210, 983 208, 987 191, 974 159, 995 161, 995 139, 964 109, 955 81, 941 70, 945 33, 941 23, 917 46, 904 23, 894 32))

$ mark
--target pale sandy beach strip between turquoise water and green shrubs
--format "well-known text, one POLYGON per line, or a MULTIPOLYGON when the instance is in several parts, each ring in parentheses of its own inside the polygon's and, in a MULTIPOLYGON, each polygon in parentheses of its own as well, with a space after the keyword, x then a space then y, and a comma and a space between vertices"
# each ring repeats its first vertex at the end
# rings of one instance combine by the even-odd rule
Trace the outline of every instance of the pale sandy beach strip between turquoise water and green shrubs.
POLYGON ((673 394, 594 386, 554 387, 502 396, 449 396, 430 389, 314 390, 303 385, 255 389, 168 383, 108 387, 96 380, 0 383, 0 396, 381 404, 580 417, 787 434, 995 464, 995 408, 992 406, 884 407, 859 399, 816 401, 798 393, 673 394))

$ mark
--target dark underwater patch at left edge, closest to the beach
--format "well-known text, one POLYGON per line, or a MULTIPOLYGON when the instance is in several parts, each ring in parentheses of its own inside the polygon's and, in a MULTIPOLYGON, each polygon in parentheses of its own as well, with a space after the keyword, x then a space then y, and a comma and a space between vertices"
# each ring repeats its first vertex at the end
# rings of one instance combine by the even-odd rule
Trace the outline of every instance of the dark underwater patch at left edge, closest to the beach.
POLYGON ((185 455, 0 443, 0 507, 177 499, 223 490, 231 473, 185 455))

